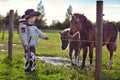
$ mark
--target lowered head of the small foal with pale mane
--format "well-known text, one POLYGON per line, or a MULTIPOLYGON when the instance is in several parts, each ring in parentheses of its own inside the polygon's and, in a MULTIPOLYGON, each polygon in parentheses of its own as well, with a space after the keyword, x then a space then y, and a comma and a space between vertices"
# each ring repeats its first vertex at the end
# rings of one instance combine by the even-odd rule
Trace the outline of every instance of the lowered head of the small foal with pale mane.
POLYGON ((69 32, 70 32, 69 28, 60 32, 60 37, 61 37, 61 42, 62 42, 61 48, 63 50, 65 50, 67 48, 67 46, 68 46, 68 43, 69 43, 69 32))

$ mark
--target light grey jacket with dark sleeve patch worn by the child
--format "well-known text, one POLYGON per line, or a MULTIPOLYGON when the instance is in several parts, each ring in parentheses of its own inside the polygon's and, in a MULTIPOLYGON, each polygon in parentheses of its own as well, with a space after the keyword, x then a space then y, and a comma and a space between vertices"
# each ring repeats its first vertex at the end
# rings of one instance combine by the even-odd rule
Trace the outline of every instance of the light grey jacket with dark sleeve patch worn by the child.
POLYGON ((45 39, 47 36, 34 25, 19 23, 19 33, 23 46, 38 46, 38 37, 45 39))

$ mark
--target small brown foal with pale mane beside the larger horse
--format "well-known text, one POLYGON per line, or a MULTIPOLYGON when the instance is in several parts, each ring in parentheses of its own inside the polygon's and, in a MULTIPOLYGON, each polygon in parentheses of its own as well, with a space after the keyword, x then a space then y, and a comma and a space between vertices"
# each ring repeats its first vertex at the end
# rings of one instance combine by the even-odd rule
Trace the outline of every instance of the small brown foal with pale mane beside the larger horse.
POLYGON ((80 34, 76 32, 73 36, 69 34, 70 28, 64 29, 60 32, 62 49, 65 50, 69 44, 69 56, 72 65, 77 65, 77 58, 79 63, 79 53, 80 53, 80 34), (72 53, 75 51, 75 63, 72 61, 72 53))

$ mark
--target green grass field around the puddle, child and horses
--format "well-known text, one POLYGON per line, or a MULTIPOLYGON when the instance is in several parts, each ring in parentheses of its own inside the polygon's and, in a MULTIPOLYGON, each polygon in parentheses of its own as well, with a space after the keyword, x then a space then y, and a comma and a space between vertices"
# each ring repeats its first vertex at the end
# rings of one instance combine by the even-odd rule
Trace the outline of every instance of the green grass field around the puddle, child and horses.
MULTIPOLYGON (((59 31, 45 31, 49 36, 49 41, 39 39, 39 46, 36 49, 37 54, 41 56, 68 56, 68 50, 61 50, 61 42, 59 31)), ((5 39, 1 39, 0 43, 8 42, 8 33, 5 33, 5 39)), ((13 43, 20 43, 19 35, 14 32, 13 43)), ((0 46, 0 49, 7 49, 0 46)), ((120 41, 118 48, 114 53, 114 63, 111 70, 107 70, 109 61, 109 53, 106 47, 103 47, 102 55, 102 79, 103 80, 120 80, 120 41)), ((80 53, 82 59, 82 52, 80 53)), ((89 57, 87 57, 89 60, 89 57)), ((55 66, 37 60, 36 72, 25 74, 24 72, 24 53, 21 45, 13 46, 13 59, 8 59, 7 52, 0 52, 0 80, 94 80, 95 68, 93 70, 80 70, 80 66, 55 66)), ((95 53, 94 53, 95 63, 95 53)), ((88 65, 86 65, 88 67, 88 65)), ((95 66, 94 66, 95 67, 95 66)))

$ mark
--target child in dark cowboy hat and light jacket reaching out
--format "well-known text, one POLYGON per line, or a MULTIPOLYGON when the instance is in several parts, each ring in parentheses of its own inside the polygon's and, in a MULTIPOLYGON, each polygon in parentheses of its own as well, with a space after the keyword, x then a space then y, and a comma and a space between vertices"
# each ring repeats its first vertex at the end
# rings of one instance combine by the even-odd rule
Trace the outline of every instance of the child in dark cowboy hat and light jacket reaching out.
POLYGON ((35 48, 38 46, 38 37, 49 39, 34 25, 39 15, 39 12, 28 9, 19 20, 19 33, 25 52, 25 72, 35 71, 35 48))

